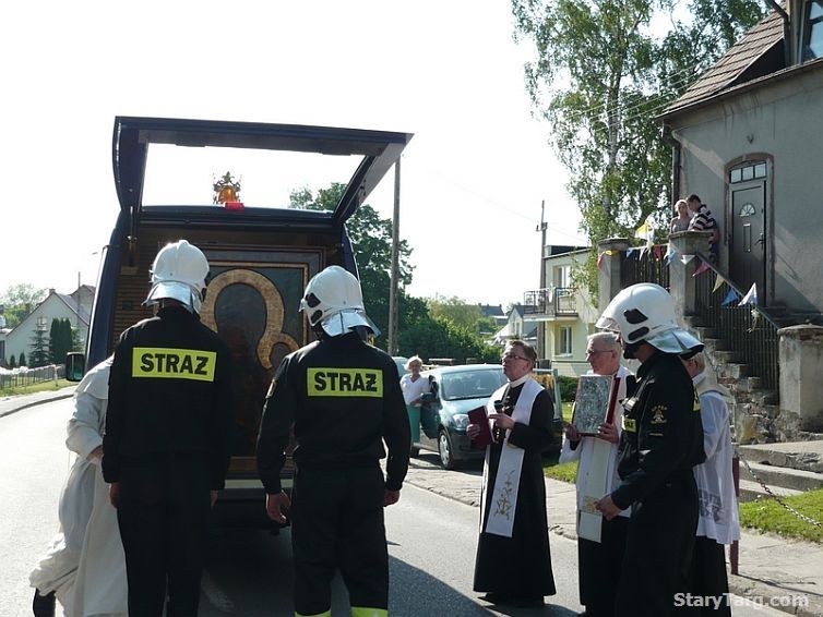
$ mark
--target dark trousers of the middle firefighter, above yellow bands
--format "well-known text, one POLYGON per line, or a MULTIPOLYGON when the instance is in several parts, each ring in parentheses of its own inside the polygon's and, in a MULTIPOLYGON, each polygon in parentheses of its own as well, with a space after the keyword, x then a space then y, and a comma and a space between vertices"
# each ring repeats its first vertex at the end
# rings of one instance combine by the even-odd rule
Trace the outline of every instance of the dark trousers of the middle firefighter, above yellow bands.
POLYGON ((389 608, 389 551, 383 524, 383 471, 299 469, 291 494, 295 612, 318 615, 332 604, 339 569, 353 608, 389 608))

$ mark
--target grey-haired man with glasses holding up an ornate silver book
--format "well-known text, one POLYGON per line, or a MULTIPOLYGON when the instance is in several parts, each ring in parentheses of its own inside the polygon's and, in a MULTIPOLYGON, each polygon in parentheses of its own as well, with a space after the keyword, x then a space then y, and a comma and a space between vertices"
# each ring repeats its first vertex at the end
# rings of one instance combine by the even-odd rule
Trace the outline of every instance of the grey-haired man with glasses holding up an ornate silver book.
MULTIPOLYGON (((618 403, 612 422, 600 424, 597 435, 581 435, 574 424, 565 431, 560 462, 580 461, 577 467, 577 520, 585 511, 586 495, 594 486, 599 496, 611 493, 620 485, 617 474, 618 443, 623 419, 622 401, 634 389, 634 375, 620 365, 622 348, 611 332, 597 332, 588 337, 586 361, 592 366, 589 374, 612 375, 618 379, 618 403), (627 394, 628 392, 628 394, 627 394), (605 477, 605 485, 603 479, 605 477)), ((630 510, 600 522, 600 542, 577 537, 577 569, 580 572, 580 602, 586 607, 586 616, 611 616, 620 580, 620 564, 623 560, 625 534, 630 510)))

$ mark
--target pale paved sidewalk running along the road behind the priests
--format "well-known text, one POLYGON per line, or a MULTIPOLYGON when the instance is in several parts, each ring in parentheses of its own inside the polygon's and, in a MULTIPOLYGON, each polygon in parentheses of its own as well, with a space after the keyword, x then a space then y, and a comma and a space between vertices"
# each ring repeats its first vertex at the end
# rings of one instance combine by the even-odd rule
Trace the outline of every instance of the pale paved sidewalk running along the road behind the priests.
MULTIPOLYGON (((479 507, 481 475, 476 464, 445 471, 425 453, 412 459, 406 483, 479 507)), ((576 540, 574 485, 547 477, 546 495, 550 531, 576 540)), ((823 546, 741 530, 738 569, 729 574, 731 593, 792 615, 823 616, 823 546)))

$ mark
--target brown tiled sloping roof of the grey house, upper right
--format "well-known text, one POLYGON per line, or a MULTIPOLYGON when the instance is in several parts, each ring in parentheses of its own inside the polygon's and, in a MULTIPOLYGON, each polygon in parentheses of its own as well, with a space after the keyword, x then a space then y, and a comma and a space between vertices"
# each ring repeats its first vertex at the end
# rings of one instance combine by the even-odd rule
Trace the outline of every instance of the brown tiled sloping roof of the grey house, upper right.
POLYGON ((776 11, 752 27, 720 59, 661 113, 667 117, 702 102, 740 83, 763 76, 750 71, 767 51, 783 41, 783 19, 776 11))

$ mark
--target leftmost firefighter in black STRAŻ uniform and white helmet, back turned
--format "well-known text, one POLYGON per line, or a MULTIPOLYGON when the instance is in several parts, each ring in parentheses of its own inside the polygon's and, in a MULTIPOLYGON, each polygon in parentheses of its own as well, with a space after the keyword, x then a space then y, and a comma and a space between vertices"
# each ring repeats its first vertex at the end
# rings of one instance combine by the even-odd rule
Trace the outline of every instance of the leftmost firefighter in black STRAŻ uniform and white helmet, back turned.
POLYGON ((198 316, 208 262, 186 240, 152 266, 157 315, 115 350, 103 475, 126 553, 130 617, 198 614, 208 512, 230 456, 230 354, 198 316))

